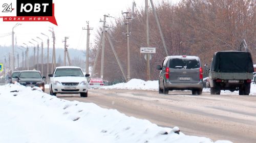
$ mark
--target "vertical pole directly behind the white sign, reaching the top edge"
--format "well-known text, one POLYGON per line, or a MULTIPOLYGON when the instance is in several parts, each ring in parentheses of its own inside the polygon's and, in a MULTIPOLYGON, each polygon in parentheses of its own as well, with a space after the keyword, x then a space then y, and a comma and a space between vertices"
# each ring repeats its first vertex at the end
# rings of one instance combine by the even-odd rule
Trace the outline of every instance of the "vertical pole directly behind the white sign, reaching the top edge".
MULTIPOLYGON (((145 0, 145 12, 146 12, 146 45, 150 47, 150 33, 148 30, 148 1, 145 0)), ((146 53, 146 69, 147 69, 147 80, 151 79, 150 74, 150 53, 146 53)))

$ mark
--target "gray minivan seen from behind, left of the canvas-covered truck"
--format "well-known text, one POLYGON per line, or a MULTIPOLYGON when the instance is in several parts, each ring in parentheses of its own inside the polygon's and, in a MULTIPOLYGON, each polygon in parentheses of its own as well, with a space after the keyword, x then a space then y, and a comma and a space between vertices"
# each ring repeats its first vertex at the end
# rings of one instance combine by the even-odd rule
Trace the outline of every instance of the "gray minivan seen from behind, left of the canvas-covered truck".
POLYGON ((166 56, 162 66, 157 66, 159 93, 168 94, 172 90, 191 90, 193 95, 203 91, 203 70, 198 56, 166 56))

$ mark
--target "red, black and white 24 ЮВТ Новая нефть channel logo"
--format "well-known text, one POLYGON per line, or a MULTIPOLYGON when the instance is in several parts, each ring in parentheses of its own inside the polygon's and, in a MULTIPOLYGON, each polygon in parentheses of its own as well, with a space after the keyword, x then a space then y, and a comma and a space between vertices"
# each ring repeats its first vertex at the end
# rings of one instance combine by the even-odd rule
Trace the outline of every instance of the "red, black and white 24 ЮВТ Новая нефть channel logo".
POLYGON ((49 21, 57 25, 52 0, 2 0, 0 18, 3 21, 49 21))

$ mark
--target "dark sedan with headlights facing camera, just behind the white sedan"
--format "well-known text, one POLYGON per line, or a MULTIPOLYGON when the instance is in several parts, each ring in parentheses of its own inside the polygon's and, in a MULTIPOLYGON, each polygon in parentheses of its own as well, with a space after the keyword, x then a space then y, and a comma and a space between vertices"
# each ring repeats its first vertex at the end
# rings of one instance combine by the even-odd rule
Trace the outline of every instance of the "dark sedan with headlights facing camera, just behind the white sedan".
POLYGON ((26 70, 20 71, 17 77, 17 82, 26 87, 39 87, 45 92, 45 81, 46 76, 42 76, 39 71, 26 70))

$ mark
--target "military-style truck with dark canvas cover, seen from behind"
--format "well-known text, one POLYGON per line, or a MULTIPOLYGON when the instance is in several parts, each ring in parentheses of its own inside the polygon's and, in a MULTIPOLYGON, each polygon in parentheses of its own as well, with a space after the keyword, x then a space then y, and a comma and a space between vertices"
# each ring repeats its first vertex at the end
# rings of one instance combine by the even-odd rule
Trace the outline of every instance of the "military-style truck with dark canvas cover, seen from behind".
POLYGON ((216 52, 209 69, 210 94, 220 95, 221 90, 229 90, 239 91, 239 95, 249 95, 252 77, 250 52, 216 52))

